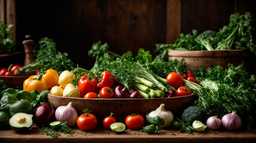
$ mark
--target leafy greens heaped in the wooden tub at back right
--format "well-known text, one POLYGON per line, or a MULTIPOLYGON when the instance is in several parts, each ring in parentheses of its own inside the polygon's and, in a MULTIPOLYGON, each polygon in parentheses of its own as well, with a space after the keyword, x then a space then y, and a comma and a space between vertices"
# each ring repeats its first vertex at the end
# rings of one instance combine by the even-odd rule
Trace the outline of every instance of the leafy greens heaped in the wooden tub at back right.
POLYGON ((168 49, 178 51, 243 49, 256 54, 255 30, 256 24, 251 13, 231 14, 230 23, 222 27, 219 32, 206 30, 198 35, 197 30, 192 30, 192 34, 181 33, 173 44, 156 44, 156 52, 160 52, 158 57, 164 59, 167 59, 168 49))

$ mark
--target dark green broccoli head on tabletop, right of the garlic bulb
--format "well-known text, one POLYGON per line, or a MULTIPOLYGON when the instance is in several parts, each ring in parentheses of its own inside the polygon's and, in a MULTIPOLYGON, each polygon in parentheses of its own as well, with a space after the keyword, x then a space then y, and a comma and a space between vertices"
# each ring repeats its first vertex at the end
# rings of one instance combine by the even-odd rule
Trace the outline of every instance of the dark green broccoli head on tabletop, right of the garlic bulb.
POLYGON ((189 122, 192 123, 194 122, 194 120, 201 120, 202 119, 202 111, 200 108, 198 107, 194 107, 194 106, 189 106, 188 108, 186 108, 182 114, 181 114, 181 119, 184 122, 189 122))

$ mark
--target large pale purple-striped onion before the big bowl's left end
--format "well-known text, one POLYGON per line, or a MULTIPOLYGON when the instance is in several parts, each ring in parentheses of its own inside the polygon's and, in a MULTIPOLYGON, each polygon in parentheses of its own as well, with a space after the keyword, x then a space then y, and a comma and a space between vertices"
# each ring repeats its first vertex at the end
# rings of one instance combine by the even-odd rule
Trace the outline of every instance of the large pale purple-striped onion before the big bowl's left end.
POLYGON ((69 102, 68 105, 62 105, 56 109, 55 117, 58 121, 67 122, 68 126, 75 126, 78 114, 76 109, 73 108, 72 102, 69 102))

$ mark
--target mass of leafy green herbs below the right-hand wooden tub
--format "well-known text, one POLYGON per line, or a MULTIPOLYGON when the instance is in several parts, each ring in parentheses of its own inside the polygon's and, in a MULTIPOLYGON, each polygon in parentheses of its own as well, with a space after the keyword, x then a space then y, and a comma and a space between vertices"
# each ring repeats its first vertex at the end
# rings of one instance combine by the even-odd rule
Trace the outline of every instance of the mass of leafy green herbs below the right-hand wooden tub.
POLYGON ((221 66, 207 70, 200 67, 195 77, 200 79, 201 86, 192 82, 186 85, 198 95, 194 106, 202 110, 203 120, 236 111, 244 126, 249 128, 255 123, 255 75, 246 72, 243 64, 237 67, 228 64, 227 69, 221 66))

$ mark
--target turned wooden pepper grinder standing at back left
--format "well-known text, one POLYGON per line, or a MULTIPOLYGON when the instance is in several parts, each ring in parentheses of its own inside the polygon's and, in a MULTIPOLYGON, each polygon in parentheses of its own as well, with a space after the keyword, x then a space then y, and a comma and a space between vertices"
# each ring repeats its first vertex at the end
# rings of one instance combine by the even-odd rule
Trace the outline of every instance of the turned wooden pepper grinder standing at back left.
POLYGON ((32 37, 30 35, 26 35, 25 41, 22 41, 22 44, 24 46, 24 51, 25 51, 25 61, 23 66, 26 66, 28 64, 31 64, 34 61, 34 55, 33 55, 34 41, 32 40, 32 37))

